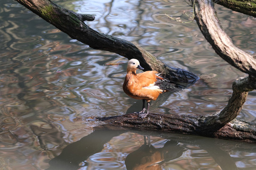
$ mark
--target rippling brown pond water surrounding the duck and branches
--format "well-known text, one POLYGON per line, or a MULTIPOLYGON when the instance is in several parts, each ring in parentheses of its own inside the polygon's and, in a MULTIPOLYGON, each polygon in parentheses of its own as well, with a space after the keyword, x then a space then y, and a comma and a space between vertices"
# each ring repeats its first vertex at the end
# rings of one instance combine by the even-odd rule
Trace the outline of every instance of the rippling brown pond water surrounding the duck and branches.
MULTIPOLYGON (((221 110, 232 93, 232 82, 246 76, 212 50, 185 1, 55 3, 96 15, 95 21, 87 22, 93 29, 137 42, 166 64, 201 77, 160 106, 153 103, 152 112, 221 110)), ((218 5, 216 9, 234 44, 255 55, 256 19, 218 5)), ((0 1, 0 28, 1 170, 255 169, 253 144, 139 131, 93 131, 99 125, 94 117, 141 109, 141 101, 122 91, 127 59, 71 39, 13 0, 0 1), (144 144, 144 135, 152 135, 151 146, 144 144)), ((249 93, 239 118, 256 121, 255 96, 255 91, 249 93)))

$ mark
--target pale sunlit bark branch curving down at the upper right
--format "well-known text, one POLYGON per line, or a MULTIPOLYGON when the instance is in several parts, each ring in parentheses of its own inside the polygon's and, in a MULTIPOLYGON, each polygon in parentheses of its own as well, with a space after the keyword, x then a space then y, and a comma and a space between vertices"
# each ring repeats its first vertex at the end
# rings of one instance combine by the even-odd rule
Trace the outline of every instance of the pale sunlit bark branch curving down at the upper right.
POLYGON ((197 24, 216 53, 231 66, 250 76, 256 76, 256 60, 253 56, 237 48, 229 36, 222 30, 216 17, 211 0, 196 0, 197 24))

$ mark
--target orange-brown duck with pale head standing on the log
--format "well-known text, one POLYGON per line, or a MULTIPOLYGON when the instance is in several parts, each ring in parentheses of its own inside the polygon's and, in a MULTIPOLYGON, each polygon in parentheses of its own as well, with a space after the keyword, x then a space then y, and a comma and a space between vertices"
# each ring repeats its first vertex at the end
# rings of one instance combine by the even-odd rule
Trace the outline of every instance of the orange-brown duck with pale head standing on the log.
POLYGON ((139 112, 139 117, 141 118, 146 117, 149 113, 150 101, 155 101, 159 94, 167 91, 177 92, 183 89, 183 85, 171 82, 157 71, 145 71, 136 74, 137 69, 143 70, 144 68, 139 65, 137 59, 130 59, 128 61, 123 90, 128 96, 143 100, 142 110, 139 112), (147 102, 147 110, 145 108, 145 101, 147 102))

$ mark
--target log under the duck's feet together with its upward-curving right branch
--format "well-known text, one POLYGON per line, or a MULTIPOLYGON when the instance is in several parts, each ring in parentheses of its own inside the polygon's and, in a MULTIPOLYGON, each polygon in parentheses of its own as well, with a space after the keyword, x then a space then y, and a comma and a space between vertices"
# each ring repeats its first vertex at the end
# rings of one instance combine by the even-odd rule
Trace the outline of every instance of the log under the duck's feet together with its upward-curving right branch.
POLYGON ((150 113, 147 119, 141 119, 138 117, 137 113, 133 113, 116 117, 100 118, 100 120, 129 128, 143 128, 172 133, 256 142, 256 125, 235 119, 240 113, 248 93, 244 92, 243 89, 239 89, 241 83, 246 86, 247 84, 253 85, 254 88, 256 88, 253 82, 254 81, 250 80, 248 77, 236 80, 233 83, 234 92, 229 99, 228 105, 220 112, 212 115, 160 115, 150 113))

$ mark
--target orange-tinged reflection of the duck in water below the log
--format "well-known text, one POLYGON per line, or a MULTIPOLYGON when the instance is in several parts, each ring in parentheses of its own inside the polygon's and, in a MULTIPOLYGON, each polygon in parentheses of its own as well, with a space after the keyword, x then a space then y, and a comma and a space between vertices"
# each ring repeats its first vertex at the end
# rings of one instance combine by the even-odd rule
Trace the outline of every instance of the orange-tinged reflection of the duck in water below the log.
POLYGON ((184 151, 178 142, 167 141, 162 148, 155 148, 150 144, 150 136, 144 136, 144 144, 136 151, 128 154, 125 160, 127 170, 162 170, 161 164, 179 158, 184 151))

